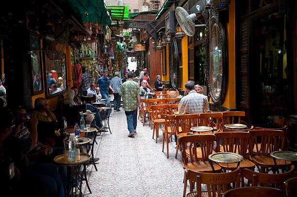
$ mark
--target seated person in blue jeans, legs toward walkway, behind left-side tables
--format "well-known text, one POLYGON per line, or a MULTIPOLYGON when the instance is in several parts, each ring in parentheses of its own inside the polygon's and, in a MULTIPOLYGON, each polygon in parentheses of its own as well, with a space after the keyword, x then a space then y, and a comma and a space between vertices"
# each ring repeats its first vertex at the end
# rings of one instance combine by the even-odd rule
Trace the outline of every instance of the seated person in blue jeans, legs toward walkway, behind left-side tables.
MULTIPOLYGON (((73 92, 70 91, 70 95, 69 95, 69 97, 67 96, 67 99, 65 100, 65 104, 71 103, 71 105, 82 105, 82 101, 78 96, 78 88, 76 86, 73 86, 73 87, 71 87, 71 90, 74 91, 74 97, 72 98, 73 92)), ((68 91, 68 93, 69 93, 69 91, 68 91)), ((100 118, 100 114, 99 114, 99 109, 89 103, 86 104, 86 109, 90 110, 91 112, 96 113, 95 114, 96 124, 94 126, 98 131, 102 131, 103 128, 102 128, 102 122, 101 122, 101 118, 100 118)))

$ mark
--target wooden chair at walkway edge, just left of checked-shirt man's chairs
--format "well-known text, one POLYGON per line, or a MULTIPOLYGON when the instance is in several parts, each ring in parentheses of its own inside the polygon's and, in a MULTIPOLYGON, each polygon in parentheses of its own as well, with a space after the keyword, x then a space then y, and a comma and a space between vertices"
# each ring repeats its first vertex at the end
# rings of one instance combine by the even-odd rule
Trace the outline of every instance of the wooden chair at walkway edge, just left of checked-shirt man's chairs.
POLYGON ((176 129, 181 129, 181 127, 176 127, 178 123, 175 120, 175 115, 161 115, 162 118, 165 119, 165 126, 162 128, 162 152, 164 152, 164 144, 166 140, 166 148, 167 148, 167 158, 169 158, 169 139, 171 138, 172 142, 172 135, 175 135, 176 129))

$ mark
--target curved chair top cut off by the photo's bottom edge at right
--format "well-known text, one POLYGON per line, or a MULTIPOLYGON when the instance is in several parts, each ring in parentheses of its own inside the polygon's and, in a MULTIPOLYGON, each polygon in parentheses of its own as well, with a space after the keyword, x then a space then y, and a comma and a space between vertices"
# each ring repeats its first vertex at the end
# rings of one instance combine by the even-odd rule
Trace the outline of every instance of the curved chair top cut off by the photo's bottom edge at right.
POLYGON ((223 197, 286 197, 285 193, 272 187, 240 187, 228 190, 223 197))

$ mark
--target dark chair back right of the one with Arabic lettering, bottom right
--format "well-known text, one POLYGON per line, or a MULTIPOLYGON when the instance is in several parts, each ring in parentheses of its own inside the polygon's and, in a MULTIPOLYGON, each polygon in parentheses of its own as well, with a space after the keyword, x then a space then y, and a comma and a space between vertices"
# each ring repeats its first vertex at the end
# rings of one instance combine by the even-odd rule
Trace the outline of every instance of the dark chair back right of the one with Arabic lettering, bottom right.
POLYGON ((295 166, 291 165, 288 172, 281 174, 260 173, 246 168, 242 169, 241 173, 242 176, 248 180, 251 186, 272 186, 285 191, 284 182, 294 176, 294 168, 295 166))

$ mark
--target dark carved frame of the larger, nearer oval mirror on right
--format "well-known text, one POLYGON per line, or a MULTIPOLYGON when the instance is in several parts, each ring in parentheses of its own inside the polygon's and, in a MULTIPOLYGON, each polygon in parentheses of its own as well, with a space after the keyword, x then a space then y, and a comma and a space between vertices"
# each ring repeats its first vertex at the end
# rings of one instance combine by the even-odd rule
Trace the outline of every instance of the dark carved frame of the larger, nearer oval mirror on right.
POLYGON ((206 29, 207 29, 207 35, 206 35, 206 82, 207 87, 209 90, 209 93, 211 95, 211 99, 216 105, 222 105, 225 101, 226 97, 226 91, 227 91, 227 79, 228 79, 228 60, 227 60, 227 47, 226 47, 226 34, 225 34, 225 28, 223 27, 222 23, 218 20, 218 14, 215 10, 206 11, 204 14, 204 17, 206 19, 206 29), (209 13, 210 12, 210 13, 209 13), (213 13, 214 12, 214 13, 213 13), (219 35, 219 42, 221 44, 222 48, 222 78, 221 78, 221 92, 218 96, 218 98, 215 97, 214 91, 213 91, 213 83, 210 76, 211 68, 210 68, 210 28, 213 27, 214 23, 217 24, 218 27, 218 35, 219 35))

